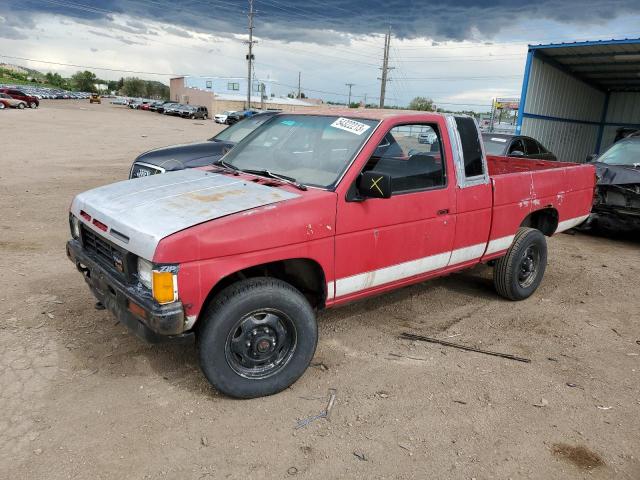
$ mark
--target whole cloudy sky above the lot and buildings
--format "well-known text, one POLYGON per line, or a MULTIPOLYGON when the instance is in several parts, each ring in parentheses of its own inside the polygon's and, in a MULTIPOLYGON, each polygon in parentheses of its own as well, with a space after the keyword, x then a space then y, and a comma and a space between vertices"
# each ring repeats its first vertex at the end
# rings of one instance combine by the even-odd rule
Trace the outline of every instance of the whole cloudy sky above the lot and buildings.
MULTIPOLYGON (((255 0, 255 73, 286 94, 377 102, 391 26, 387 105, 415 96, 486 111, 519 96, 527 44, 640 37, 640 0, 255 0), (486 105, 486 107, 484 107, 486 105)), ((245 76, 241 0, 0 0, 0 62, 70 75, 245 76), (102 67, 103 69, 97 68, 102 67), (112 69, 112 70, 108 70, 112 69), (144 73, 127 73, 129 70, 144 73)))

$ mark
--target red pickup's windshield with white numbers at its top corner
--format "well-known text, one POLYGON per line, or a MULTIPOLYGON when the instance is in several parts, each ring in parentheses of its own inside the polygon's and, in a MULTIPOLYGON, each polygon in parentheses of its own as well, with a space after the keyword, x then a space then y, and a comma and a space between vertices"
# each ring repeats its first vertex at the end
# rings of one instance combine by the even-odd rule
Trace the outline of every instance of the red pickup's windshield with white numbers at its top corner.
POLYGON ((278 115, 249 134, 224 161, 305 185, 333 186, 378 124, 330 115, 278 115))

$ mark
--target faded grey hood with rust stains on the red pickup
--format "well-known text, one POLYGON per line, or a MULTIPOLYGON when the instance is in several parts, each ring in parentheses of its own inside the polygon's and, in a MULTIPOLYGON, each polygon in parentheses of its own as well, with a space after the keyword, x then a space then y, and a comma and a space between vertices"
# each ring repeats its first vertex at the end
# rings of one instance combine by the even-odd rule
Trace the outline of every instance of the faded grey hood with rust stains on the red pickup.
POLYGON ((160 240, 173 233, 298 196, 241 177, 181 170, 86 191, 73 199, 71 212, 97 234, 151 260, 160 240), (107 225, 108 231, 89 224, 81 210, 107 225))

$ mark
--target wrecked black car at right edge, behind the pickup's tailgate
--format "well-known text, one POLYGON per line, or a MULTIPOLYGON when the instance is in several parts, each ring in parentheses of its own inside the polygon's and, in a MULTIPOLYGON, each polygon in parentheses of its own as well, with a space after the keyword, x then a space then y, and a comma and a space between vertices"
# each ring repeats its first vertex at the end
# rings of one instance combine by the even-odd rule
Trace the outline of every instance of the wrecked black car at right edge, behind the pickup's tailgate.
POLYGON ((587 228, 640 231, 640 135, 627 133, 603 154, 588 159, 596 167, 598 181, 587 228))

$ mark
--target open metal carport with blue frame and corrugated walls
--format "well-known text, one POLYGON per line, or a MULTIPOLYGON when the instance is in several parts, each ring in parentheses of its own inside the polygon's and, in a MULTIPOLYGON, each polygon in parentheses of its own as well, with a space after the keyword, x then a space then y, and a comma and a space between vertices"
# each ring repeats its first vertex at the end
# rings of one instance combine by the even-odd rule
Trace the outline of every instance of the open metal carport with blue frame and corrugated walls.
POLYGON ((530 45, 517 133, 583 162, 640 128, 640 39, 530 45))

